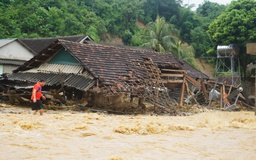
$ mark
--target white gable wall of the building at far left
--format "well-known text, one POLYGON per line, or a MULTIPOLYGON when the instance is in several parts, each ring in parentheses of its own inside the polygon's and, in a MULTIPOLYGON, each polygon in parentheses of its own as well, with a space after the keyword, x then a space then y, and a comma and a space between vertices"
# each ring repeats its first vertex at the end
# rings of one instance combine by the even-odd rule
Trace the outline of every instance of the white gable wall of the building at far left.
POLYGON ((0 59, 30 60, 34 54, 17 41, 0 48, 0 59))

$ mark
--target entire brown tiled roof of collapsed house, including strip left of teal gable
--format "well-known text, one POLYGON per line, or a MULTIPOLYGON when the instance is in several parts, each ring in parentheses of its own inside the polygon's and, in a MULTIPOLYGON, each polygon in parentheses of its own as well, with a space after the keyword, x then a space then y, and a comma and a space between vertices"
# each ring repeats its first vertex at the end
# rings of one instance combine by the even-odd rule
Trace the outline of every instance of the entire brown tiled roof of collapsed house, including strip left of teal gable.
POLYGON ((188 74, 194 78, 208 78, 208 76, 193 69, 187 63, 178 61, 172 54, 100 44, 80 44, 60 39, 14 72, 39 67, 63 47, 102 84, 113 84, 118 81, 120 76, 128 76, 128 71, 132 70, 131 63, 142 62, 145 58, 152 59, 154 63, 160 66, 169 66, 169 68, 181 70, 189 69, 188 74))

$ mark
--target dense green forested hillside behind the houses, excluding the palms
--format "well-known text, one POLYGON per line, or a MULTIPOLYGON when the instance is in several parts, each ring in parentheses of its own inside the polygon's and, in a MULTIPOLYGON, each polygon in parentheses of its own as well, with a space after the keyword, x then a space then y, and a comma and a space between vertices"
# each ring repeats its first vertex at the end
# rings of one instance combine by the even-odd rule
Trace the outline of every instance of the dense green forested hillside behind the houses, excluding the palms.
POLYGON ((194 13, 177 0, 1 0, 0 37, 88 34, 101 41, 114 35, 138 35, 136 20, 147 24, 159 15, 175 25, 182 40, 191 44, 197 43, 198 35, 206 36, 208 24, 224 9, 206 2, 194 13))

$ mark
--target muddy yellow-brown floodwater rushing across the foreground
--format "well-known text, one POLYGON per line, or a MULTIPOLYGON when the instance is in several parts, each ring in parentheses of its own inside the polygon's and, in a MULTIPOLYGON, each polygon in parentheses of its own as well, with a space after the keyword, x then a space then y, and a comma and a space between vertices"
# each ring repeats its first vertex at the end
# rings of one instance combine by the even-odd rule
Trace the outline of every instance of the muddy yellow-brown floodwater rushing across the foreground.
POLYGON ((254 112, 108 115, 0 107, 0 159, 256 159, 254 112), (8 111, 7 111, 8 110, 8 111))

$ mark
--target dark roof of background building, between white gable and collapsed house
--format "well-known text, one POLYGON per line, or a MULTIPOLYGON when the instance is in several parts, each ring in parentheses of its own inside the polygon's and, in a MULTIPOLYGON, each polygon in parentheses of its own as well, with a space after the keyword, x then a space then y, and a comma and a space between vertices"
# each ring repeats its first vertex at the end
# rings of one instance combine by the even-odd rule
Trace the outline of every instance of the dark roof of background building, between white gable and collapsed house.
POLYGON ((66 37, 50 37, 50 38, 25 38, 18 39, 26 47, 30 48, 36 54, 40 53, 43 49, 48 47, 54 41, 58 39, 64 39, 73 42, 80 42, 84 39, 91 40, 89 36, 79 35, 79 36, 66 36, 66 37))

